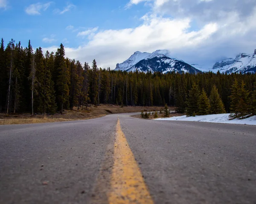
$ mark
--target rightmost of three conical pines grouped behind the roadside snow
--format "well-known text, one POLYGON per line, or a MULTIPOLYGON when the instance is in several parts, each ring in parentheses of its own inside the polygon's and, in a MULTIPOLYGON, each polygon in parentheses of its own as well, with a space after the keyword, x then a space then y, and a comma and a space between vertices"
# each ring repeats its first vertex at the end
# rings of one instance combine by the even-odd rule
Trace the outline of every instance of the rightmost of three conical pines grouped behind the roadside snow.
POLYGON ((216 86, 212 86, 212 91, 209 97, 210 100, 210 113, 211 114, 221 114, 225 113, 224 104, 221 101, 221 97, 218 93, 216 86))

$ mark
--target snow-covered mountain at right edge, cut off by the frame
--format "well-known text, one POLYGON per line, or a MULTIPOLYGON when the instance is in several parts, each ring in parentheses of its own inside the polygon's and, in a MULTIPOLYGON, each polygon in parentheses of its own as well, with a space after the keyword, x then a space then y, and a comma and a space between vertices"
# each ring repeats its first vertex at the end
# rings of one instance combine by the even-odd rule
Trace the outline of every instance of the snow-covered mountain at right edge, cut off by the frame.
POLYGON ((256 50, 254 54, 240 53, 235 59, 228 58, 216 62, 212 67, 212 71, 220 71, 227 74, 241 72, 241 73, 256 73, 256 50))

